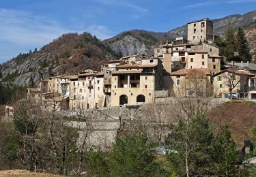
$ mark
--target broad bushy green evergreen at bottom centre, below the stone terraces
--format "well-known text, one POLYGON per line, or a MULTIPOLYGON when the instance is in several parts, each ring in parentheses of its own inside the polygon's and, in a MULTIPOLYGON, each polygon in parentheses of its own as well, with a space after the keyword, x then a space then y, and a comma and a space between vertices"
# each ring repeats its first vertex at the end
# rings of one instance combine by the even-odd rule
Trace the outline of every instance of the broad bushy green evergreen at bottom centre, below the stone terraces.
POLYGON ((117 138, 110 155, 111 176, 153 176, 157 165, 144 131, 117 138))

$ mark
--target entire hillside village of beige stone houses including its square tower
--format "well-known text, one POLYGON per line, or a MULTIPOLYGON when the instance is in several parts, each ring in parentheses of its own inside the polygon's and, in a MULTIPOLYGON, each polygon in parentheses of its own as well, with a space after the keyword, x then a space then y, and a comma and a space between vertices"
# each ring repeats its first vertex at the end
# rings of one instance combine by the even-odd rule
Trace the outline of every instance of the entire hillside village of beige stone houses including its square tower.
MULTIPOLYGON (((86 68, 73 76, 48 77, 27 88, 27 101, 59 111, 134 106, 174 96, 256 99, 255 64, 221 62, 216 38, 208 18, 189 22, 187 40, 162 42, 150 57, 107 61, 100 71, 86 68)), ((6 106, 6 116, 12 109, 6 106)))

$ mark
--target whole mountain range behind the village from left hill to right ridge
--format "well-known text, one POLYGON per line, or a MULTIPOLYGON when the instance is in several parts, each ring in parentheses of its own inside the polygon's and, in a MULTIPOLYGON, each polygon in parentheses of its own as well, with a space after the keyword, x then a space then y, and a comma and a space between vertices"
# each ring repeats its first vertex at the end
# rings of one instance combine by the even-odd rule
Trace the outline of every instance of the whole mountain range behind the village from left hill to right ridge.
MULTIPOLYGON (((256 53, 256 11, 244 15, 231 15, 214 20, 214 33, 224 37, 228 23, 244 27, 251 51, 256 53)), ((154 54, 159 42, 186 37, 186 25, 167 33, 131 30, 119 33, 103 42, 89 33, 69 33, 55 39, 41 50, 20 54, 0 65, 0 81, 15 85, 31 86, 41 78, 57 74, 74 74, 84 67, 100 67, 104 61, 129 54, 154 54)))

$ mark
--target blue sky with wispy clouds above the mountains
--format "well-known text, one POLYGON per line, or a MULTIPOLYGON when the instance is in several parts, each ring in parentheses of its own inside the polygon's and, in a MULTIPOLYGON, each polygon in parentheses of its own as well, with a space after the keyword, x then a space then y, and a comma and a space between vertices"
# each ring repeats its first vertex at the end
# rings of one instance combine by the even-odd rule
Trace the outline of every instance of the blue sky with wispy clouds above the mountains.
POLYGON ((130 29, 166 32, 199 18, 256 10, 256 0, 1 0, 0 63, 63 33, 100 39, 130 29))

